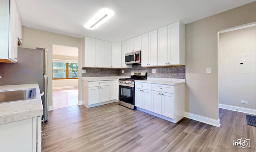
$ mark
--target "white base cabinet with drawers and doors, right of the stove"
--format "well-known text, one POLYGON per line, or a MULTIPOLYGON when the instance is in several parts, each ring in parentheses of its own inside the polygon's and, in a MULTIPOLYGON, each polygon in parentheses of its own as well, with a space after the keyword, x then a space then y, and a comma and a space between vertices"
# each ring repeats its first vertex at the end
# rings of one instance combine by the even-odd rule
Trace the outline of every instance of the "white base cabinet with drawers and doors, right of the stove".
POLYGON ((135 106, 140 111, 177 123, 184 117, 185 85, 135 82, 135 106))

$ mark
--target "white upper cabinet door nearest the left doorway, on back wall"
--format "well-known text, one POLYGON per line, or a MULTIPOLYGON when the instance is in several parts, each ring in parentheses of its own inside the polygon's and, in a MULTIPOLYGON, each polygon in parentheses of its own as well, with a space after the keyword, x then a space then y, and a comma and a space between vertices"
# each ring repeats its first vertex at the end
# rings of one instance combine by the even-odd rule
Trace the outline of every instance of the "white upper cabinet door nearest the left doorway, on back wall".
POLYGON ((96 39, 85 37, 84 55, 84 66, 96 67, 96 39))

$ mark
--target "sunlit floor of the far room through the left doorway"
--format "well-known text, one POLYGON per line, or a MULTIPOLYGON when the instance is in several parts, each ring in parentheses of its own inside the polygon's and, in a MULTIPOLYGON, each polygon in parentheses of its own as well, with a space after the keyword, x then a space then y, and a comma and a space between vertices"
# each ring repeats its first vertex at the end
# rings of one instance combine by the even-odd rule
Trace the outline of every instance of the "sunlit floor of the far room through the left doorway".
POLYGON ((54 109, 77 105, 78 88, 52 90, 52 105, 54 109))

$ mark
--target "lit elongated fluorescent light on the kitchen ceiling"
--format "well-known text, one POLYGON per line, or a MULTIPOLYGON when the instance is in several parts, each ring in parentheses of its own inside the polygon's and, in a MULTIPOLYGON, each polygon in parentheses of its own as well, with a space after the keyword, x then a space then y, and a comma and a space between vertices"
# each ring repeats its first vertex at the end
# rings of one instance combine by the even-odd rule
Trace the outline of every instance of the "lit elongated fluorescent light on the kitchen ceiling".
POLYGON ((98 26, 100 26, 102 23, 104 23, 106 20, 111 18, 115 13, 107 8, 101 9, 94 17, 88 21, 84 27, 87 29, 96 29, 98 26))

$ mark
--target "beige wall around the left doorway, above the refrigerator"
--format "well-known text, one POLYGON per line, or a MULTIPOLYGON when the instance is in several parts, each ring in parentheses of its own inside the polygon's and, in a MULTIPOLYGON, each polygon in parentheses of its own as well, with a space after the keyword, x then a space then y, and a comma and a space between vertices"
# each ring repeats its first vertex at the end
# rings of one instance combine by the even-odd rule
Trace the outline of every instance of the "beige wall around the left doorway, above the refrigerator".
MULTIPOLYGON (((82 50, 81 39, 70 37, 66 35, 56 34, 48 31, 42 31, 33 29, 30 27, 23 27, 23 44, 20 47, 35 49, 36 47, 42 47, 48 49, 48 82, 49 82, 49 106, 52 106, 52 45, 65 45, 70 47, 79 48, 79 56, 82 50)), ((79 62, 81 60, 79 59, 79 62)), ((80 64, 80 63, 79 63, 80 64)), ((82 64, 80 64, 82 65, 82 64)), ((79 68, 79 90, 82 87, 82 70, 79 68)), ((78 100, 82 100, 82 94, 79 92, 78 100)))

